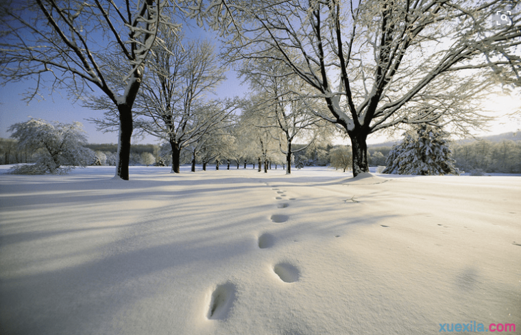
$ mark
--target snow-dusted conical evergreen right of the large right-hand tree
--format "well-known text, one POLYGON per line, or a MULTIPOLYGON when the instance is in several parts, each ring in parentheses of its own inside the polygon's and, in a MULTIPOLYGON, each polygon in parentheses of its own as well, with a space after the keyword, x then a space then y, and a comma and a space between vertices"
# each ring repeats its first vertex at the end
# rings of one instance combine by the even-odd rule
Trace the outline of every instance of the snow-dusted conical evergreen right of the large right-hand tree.
POLYGON ((405 133, 387 156, 383 173, 398 175, 459 175, 448 147, 448 133, 441 127, 420 125, 405 133))

